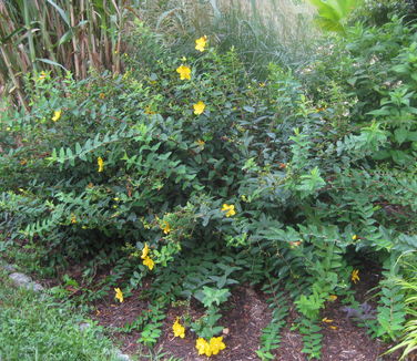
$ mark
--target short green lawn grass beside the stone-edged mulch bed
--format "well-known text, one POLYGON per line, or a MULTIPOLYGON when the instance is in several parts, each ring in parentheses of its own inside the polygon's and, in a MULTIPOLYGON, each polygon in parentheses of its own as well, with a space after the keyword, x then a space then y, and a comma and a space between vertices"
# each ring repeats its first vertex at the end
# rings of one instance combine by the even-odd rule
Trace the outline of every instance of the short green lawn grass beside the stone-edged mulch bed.
POLYGON ((116 360, 100 327, 79 330, 83 317, 69 303, 18 289, 0 271, 0 361, 116 360))

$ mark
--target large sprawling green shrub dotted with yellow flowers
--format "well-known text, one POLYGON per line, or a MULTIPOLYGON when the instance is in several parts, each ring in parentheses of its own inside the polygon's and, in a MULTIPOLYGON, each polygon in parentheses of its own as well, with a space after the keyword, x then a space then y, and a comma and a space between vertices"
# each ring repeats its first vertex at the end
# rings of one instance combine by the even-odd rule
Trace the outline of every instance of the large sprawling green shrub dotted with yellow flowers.
MULTIPOLYGON (((110 282, 119 287, 125 272, 128 295, 153 275, 157 319, 132 324, 146 344, 160 334, 163 307, 181 297, 205 306, 189 327, 210 339, 232 285, 263 283, 276 309, 285 291, 312 358, 321 354, 321 311, 334 296, 355 305, 353 275, 365 258, 385 268, 369 327, 397 338, 404 299, 387 295, 401 292, 390 281, 394 260, 417 246, 417 183, 415 164, 389 152, 415 156, 413 140, 396 137, 415 125, 384 112, 414 112, 413 59, 404 62, 411 29, 395 20, 364 30, 364 40, 352 35, 317 58, 309 75, 272 64, 260 82, 210 37, 185 59, 138 24, 123 75, 28 76, 31 112, 10 111, 1 123, 3 241, 53 268, 85 258, 124 265, 110 282), (380 59, 391 81, 409 84, 409 104, 385 100, 395 87, 373 86, 382 68, 367 56, 380 39, 380 59), (370 74, 360 78, 364 69, 370 74)), ((287 311, 265 329, 263 357, 278 345, 271 340, 287 311)))

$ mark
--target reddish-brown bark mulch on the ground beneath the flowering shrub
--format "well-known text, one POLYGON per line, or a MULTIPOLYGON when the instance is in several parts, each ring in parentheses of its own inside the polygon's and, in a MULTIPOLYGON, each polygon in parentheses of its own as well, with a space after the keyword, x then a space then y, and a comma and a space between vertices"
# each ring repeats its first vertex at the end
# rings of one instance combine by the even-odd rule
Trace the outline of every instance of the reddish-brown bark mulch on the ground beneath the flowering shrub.
MULTIPOLYGON (((368 275, 370 277, 370 275, 368 275)), ((364 275, 365 279, 365 275, 364 275)), ((370 278, 368 278, 370 279, 370 278)), ((369 282, 370 283, 370 282, 369 282)), ((358 287, 358 300, 363 301, 365 289, 369 285, 358 287)), ((113 298, 96 306, 93 318, 100 324, 115 328, 123 327, 126 322, 133 321, 142 310, 146 309, 146 301, 139 299, 140 291, 135 291, 123 303, 115 305, 113 298)), ((380 357, 388 348, 377 340, 372 340, 364 329, 346 319, 340 310, 339 301, 329 302, 323 312, 323 318, 332 319, 332 323, 323 322, 323 361, 397 361, 399 353, 380 357), (333 326, 334 328, 330 328, 333 326)), ((184 361, 251 361, 260 360, 255 353, 258 349, 258 340, 262 329, 271 320, 271 311, 265 302, 264 296, 250 287, 237 287, 224 307, 224 317, 220 324, 225 327, 223 340, 226 349, 210 359, 199 355, 195 349, 195 337, 186 334, 185 339, 174 338, 172 324, 175 318, 189 312, 195 319, 203 314, 203 309, 199 305, 192 303, 190 309, 171 308, 164 321, 163 332, 155 349, 162 349, 170 355, 174 355, 184 361)), ((291 312, 288 324, 292 323, 295 312, 291 312)), ((136 340, 139 332, 115 333, 122 351, 129 354, 138 354, 143 350, 136 340)), ((277 361, 307 361, 301 352, 303 349, 302 337, 296 331, 291 331, 289 327, 282 332, 281 348, 275 350, 277 361)), ((145 360, 145 359, 143 359, 145 360)), ((148 359, 146 359, 148 360, 148 359)))

